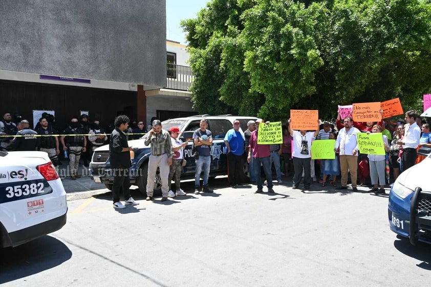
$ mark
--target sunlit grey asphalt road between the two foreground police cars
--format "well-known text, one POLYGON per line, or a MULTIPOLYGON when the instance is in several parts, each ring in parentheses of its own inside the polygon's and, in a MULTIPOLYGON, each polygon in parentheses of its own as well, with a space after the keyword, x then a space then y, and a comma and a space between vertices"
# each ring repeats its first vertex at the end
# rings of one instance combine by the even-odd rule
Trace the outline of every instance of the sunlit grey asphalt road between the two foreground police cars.
MULTIPOLYGON (((192 182, 183 183, 191 192, 192 182)), ((112 208, 68 201, 66 226, 0 251, 7 286, 424 286, 431 246, 389 230, 387 195, 276 185, 112 208), (266 190, 266 189, 265 189, 266 190)), ((389 192, 389 191, 388 191, 389 192)))

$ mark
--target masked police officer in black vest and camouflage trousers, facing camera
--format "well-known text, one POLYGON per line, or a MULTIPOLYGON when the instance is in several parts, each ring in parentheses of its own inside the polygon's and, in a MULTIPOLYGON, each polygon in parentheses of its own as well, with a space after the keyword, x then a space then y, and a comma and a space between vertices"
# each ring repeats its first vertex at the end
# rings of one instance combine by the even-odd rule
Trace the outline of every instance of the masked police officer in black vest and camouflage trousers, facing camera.
POLYGON ((83 131, 79 127, 79 122, 76 117, 72 118, 70 125, 64 129, 63 134, 60 137, 63 151, 69 150, 69 167, 71 171, 71 179, 81 177, 78 174, 79 159, 81 158, 81 152, 85 152, 87 149, 87 138, 83 135, 83 131), (68 136, 66 136, 68 135, 68 136))

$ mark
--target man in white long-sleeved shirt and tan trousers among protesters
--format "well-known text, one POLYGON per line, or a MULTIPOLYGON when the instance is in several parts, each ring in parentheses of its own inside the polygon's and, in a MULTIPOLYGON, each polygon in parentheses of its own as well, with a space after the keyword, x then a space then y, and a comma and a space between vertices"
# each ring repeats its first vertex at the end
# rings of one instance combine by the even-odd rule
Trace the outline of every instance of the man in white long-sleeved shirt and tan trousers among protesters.
POLYGON ((352 179, 352 190, 357 191, 356 179, 358 171, 358 141, 356 135, 360 131, 353 127, 353 119, 350 116, 344 118, 344 128, 335 141, 335 152, 340 155, 341 185, 335 189, 347 189, 348 172, 352 179))

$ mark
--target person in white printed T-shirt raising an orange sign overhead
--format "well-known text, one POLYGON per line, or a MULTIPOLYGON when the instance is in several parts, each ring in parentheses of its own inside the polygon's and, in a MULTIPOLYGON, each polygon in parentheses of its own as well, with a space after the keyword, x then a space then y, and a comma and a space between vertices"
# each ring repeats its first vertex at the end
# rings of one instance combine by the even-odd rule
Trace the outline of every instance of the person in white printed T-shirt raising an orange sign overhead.
POLYGON ((289 133, 293 137, 293 175, 292 189, 299 187, 299 182, 303 175, 304 169, 304 188, 310 189, 311 185, 311 141, 319 133, 319 121, 317 120, 316 130, 314 132, 307 132, 306 130, 293 131, 288 120, 289 133))

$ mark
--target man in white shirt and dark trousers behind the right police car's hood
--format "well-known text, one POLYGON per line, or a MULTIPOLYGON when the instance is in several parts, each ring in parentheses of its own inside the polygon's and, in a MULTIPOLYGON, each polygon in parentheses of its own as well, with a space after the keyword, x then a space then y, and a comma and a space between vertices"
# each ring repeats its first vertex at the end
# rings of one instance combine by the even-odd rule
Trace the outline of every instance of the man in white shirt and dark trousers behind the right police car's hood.
POLYGON ((404 137, 402 140, 397 141, 397 145, 402 145, 402 156, 401 156, 401 172, 415 165, 418 153, 416 148, 419 146, 419 140, 421 138, 421 129, 416 124, 416 118, 418 114, 416 111, 408 111, 405 113, 404 120, 406 124, 410 124, 410 127, 404 128, 404 137))

